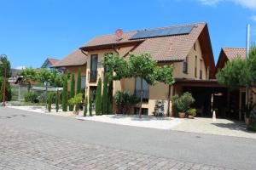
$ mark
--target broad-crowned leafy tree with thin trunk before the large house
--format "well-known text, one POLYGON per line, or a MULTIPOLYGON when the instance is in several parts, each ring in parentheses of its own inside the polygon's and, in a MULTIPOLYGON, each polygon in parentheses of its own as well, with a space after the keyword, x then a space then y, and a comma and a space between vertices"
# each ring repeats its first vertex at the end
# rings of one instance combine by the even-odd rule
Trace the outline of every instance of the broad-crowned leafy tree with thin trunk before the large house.
POLYGON ((156 82, 165 82, 172 85, 174 82, 172 77, 172 66, 157 66, 157 62, 151 59, 150 54, 130 54, 129 60, 108 55, 103 61, 104 66, 111 68, 115 75, 113 80, 120 80, 122 78, 141 78, 140 82, 140 110, 139 117, 142 115, 143 105, 143 80, 148 85, 154 85, 156 82))

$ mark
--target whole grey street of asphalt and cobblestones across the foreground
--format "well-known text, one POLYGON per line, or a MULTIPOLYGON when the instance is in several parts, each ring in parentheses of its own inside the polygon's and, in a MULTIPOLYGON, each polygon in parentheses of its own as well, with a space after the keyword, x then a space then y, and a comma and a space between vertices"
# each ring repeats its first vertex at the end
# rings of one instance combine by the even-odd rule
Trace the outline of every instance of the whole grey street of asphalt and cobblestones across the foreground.
POLYGON ((2 169, 254 169, 255 153, 254 139, 0 109, 2 169))

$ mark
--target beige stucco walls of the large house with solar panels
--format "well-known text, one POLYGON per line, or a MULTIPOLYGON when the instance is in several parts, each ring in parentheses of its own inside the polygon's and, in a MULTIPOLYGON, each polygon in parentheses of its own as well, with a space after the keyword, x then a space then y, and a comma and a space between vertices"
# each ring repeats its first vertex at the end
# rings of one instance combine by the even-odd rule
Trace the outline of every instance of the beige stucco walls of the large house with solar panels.
MULTIPOLYGON (((128 54, 134 46, 127 46, 118 49, 102 49, 102 50, 93 50, 88 52, 88 59, 87 59, 87 70, 86 70, 86 84, 88 85, 86 90, 86 94, 89 95, 90 87, 96 87, 97 81, 101 77, 103 79, 104 75, 104 68, 102 66, 102 59, 104 59, 105 54, 112 53, 112 54, 119 54, 120 56, 124 56, 128 54), (98 64, 97 64, 97 81, 90 82, 90 56, 93 54, 97 54, 98 56, 98 64)), ((179 62, 170 62, 170 63, 159 63, 159 65, 173 65, 174 71, 173 76, 175 78, 186 78, 186 79, 193 79, 193 80, 206 80, 207 79, 207 68, 205 66, 205 61, 202 58, 201 54, 201 45, 197 40, 195 42, 195 47, 190 49, 190 52, 187 56, 188 61, 188 71, 186 73, 183 72, 183 61, 179 62), (195 56, 197 59, 195 59, 195 56), (196 66, 195 66, 196 65, 196 66), (196 67, 196 75, 195 75, 195 67, 196 67), (202 77, 200 77, 200 71, 202 77), (195 77, 196 76, 196 77, 195 77)), ((135 92, 135 78, 131 79, 123 79, 121 81, 114 81, 113 82, 113 94, 115 94, 118 90, 128 90, 133 94, 135 92)), ((174 95, 178 93, 178 89, 176 91, 173 90, 173 87, 170 88, 169 86, 164 83, 157 83, 154 86, 149 87, 149 98, 147 102, 143 102, 143 108, 148 109, 148 115, 153 115, 154 106, 156 100, 163 100, 165 101, 166 105, 168 102, 168 95, 174 95)), ((172 112, 172 103, 170 105, 170 111, 172 112)), ((131 110, 133 113, 133 110, 131 110)))

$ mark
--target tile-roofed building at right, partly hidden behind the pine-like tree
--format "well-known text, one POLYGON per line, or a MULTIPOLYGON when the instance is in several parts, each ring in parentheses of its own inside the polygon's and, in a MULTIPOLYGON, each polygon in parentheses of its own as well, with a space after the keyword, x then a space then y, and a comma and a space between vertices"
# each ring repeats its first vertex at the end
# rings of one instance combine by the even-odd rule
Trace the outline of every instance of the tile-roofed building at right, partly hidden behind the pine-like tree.
MULTIPOLYGON (((237 59, 246 59, 246 48, 221 48, 216 65, 216 73, 224 68, 226 62, 237 59)), ((242 111, 246 102, 246 90, 245 88, 239 89, 228 89, 227 90, 227 101, 225 107, 228 110, 230 117, 241 120, 242 111), (237 117, 238 116, 238 117, 237 117)))

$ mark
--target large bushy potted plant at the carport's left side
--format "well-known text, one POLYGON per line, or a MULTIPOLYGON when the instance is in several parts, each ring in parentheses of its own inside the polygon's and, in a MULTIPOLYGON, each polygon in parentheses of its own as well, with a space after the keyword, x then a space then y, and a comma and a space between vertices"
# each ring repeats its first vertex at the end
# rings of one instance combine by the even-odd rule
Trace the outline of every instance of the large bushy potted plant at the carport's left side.
POLYGON ((189 110, 190 105, 195 102, 192 94, 186 92, 182 95, 175 95, 172 97, 172 103, 174 108, 178 112, 178 117, 184 118, 186 116, 186 111, 189 110))

